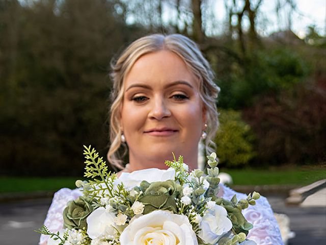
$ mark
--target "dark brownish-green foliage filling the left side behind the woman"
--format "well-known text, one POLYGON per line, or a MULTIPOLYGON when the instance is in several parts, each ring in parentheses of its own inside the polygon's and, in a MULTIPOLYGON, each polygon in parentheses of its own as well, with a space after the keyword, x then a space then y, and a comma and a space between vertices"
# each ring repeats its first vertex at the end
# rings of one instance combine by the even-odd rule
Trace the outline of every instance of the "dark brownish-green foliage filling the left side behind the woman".
POLYGON ((113 1, 22 2, 0 1, 0 173, 77 176, 81 142, 107 151, 110 59, 143 30, 113 1))

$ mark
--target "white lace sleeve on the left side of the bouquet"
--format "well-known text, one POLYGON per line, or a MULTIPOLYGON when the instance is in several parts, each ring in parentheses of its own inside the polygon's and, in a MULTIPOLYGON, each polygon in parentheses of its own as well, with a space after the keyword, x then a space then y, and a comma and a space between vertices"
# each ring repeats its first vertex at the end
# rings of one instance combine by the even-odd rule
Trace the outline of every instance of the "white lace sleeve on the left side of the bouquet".
MULTIPOLYGON (((60 189, 55 193, 44 222, 51 232, 57 232, 63 228, 63 210, 69 201, 77 199, 80 195, 82 192, 79 189, 68 188, 60 189)), ((41 235, 39 245, 45 245, 47 239, 48 236, 41 235)))

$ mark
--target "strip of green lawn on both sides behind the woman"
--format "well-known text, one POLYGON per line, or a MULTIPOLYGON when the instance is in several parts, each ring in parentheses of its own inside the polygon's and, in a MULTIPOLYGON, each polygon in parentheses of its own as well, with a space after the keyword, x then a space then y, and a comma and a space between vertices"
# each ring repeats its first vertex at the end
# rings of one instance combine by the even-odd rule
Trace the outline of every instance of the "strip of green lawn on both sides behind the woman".
MULTIPOLYGON (((326 168, 311 170, 256 170, 221 169, 233 178, 234 185, 308 185, 326 179, 326 168)), ((40 178, 40 177, 0 177, 0 193, 49 190, 63 187, 75 188, 78 177, 40 178)))

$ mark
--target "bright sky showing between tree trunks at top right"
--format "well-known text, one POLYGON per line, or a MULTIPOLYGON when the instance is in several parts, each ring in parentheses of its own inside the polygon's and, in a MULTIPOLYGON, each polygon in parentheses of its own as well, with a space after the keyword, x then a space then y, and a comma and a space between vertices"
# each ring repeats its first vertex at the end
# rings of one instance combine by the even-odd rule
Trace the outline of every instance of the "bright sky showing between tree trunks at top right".
MULTIPOLYGON (((253 1, 255 2, 255 1, 253 1)), ((287 27, 287 9, 282 10, 280 21, 275 14, 275 2, 264 0, 261 5, 262 21, 259 32, 261 35, 268 35, 278 30, 284 30, 287 27)), ((317 31, 321 35, 326 35, 326 0, 295 0, 297 12, 293 13, 291 30, 300 38, 304 38, 307 27, 311 24, 316 25, 317 31)), ((215 0, 215 16, 222 21, 225 19, 224 0, 215 0)))

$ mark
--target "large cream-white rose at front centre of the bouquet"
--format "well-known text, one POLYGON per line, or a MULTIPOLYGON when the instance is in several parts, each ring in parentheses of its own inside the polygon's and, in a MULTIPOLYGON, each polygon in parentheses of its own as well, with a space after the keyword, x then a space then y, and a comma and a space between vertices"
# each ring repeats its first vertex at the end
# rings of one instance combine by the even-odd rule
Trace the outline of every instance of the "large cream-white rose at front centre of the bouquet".
POLYGON ((155 210, 134 219, 120 236, 121 245, 198 245, 185 215, 155 210))

